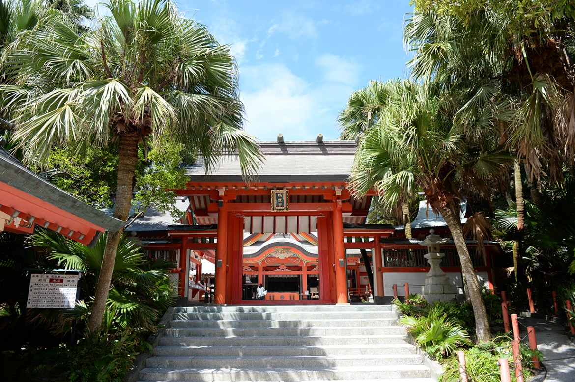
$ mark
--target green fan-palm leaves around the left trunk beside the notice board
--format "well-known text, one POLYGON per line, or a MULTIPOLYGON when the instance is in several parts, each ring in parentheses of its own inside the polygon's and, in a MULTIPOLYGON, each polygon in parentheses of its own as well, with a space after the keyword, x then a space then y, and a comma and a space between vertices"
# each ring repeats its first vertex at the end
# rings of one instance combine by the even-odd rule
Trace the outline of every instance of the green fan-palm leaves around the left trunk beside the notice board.
MULTIPOLYGON (((31 319, 51 325, 57 332, 70 331, 74 321, 86 322, 104 258, 106 234, 99 238, 94 248, 52 231, 37 233, 30 242, 47 251, 45 256, 55 262, 54 267, 86 269, 80 279, 81 302, 75 308, 60 311, 58 315, 54 315, 53 310, 35 310, 31 319)), ((128 327, 141 333, 155 331, 156 322, 171 305, 177 290, 169 278, 169 269, 173 267, 173 263, 145 258, 135 240, 122 236, 112 274, 113 287, 108 294, 106 329, 110 333, 128 327)))

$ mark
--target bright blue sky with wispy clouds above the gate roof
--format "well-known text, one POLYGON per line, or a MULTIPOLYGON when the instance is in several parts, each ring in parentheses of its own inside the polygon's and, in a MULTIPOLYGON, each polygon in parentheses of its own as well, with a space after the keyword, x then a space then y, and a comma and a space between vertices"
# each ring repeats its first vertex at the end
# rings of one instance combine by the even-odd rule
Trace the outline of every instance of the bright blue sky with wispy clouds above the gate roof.
MULTIPOLYGON (((87 1, 90 3, 91 1, 87 1)), ((247 132, 260 140, 325 140, 351 92, 406 76, 409 0, 179 0, 179 9, 230 44, 247 132)))

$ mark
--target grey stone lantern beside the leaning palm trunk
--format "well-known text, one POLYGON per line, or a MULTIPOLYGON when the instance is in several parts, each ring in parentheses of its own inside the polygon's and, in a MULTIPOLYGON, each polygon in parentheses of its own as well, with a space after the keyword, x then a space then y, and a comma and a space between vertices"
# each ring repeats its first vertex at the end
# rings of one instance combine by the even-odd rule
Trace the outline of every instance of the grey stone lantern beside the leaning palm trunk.
POLYGON ((427 246, 427 262, 430 264, 430 270, 425 277, 425 285, 421 290, 424 298, 428 303, 434 301, 448 302, 457 298, 457 289, 455 285, 451 284, 439 266, 444 253, 440 253, 440 244, 448 241, 447 238, 442 238, 435 234, 435 230, 431 229, 430 234, 420 242, 421 245, 427 246))

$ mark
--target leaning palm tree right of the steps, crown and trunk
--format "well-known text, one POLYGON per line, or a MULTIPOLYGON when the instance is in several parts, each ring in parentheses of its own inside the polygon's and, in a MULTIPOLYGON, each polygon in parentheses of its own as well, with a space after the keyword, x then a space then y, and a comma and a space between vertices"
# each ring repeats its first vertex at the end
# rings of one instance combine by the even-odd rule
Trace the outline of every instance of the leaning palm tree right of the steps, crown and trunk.
POLYGON ((387 204, 420 187, 432 209, 451 231, 473 307, 477 338, 490 338, 480 286, 463 236, 459 210, 465 196, 488 193, 489 181, 505 166, 496 148, 478 150, 453 124, 451 99, 436 88, 408 80, 394 84, 388 107, 360 141, 351 186, 365 194, 372 187, 387 204), (470 149, 473 148, 473 149, 470 149))

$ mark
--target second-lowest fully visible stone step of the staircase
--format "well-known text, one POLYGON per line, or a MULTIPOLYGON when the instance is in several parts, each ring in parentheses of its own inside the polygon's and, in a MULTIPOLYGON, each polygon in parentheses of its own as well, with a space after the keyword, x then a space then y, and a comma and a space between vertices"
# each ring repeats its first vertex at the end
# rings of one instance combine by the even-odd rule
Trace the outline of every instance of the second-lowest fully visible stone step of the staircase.
POLYGON ((149 368, 293 368, 314 369, 334 367, 421 365, 419 354, 378 354, 351 356, 257 356, 257 357, 152 357, 148 359, 149 368))

